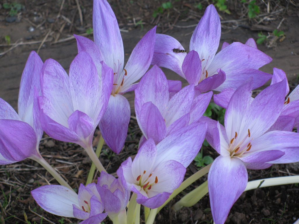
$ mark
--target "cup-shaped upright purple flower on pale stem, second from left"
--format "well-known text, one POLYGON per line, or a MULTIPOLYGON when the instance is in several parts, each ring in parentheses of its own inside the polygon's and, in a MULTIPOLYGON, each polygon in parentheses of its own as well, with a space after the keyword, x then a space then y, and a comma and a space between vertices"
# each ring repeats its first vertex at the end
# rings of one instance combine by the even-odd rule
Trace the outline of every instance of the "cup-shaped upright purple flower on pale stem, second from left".
POLYGON ((106 110, 112 88, 112 69, 102 64, 102 76, 88 53, 73 60, 69 76, 53 59, 41 71, 40 121, 54 139, 81 145, 99 170, 103 170, 92 148, 92 138, 106 110), (100 85, 99 85, 100 83, 100 85))

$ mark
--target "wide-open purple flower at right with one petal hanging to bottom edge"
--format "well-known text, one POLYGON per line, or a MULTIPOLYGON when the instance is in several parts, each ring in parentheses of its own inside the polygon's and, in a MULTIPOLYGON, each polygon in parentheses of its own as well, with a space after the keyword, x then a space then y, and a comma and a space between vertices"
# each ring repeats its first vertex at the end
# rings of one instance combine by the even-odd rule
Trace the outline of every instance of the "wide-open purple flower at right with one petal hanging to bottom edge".
POLYGON ((251 89, 252 78, 234 92, 225 113, 225 127, 207 117, 200 119, 208 122, 206 139, 220 154, 208 176, 216 224, 225 222, 231 206, 246 188, 246 168, 264 169, 273 163, 299 161, 299 134, 267 132, 283 109, 286 79, 264 89, 253 101, 251 89))

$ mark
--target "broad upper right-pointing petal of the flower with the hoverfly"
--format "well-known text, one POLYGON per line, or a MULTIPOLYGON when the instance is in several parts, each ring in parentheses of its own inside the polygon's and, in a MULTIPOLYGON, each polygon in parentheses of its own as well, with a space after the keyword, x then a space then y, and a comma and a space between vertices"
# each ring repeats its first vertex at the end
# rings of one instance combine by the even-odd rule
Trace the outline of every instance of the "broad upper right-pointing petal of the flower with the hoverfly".
POLYGON ((234 42, 215 55, 207 70, 212 75, 218 68, 225 73, 244 68, 259 69, 271 61, 272 59, 260 50, 234 42))

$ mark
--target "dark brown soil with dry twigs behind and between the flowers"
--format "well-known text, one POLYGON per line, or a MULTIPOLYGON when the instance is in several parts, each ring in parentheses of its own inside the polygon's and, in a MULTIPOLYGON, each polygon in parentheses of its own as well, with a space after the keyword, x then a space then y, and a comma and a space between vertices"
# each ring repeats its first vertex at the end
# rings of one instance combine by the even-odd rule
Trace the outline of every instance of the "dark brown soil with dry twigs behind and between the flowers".
MULTIPOLYGON (((172 1, 172 7, 153 17, 167 1, 109 1, 118 19, 124 42, 125 60, 144 34, 157 25, 157 33, 165 33, 178 39, 188 50, 192 32, 212 0, 172 1), (201 3, 200 10, 197 5, 201 3)), ((216 0, 215 0, 216 2, 216 0)), ((299 3, 297 0, 257 0, 260 13, 256 18, 248 18, 248 3, 239 0, 226 1, 231 14, 218 10, 222 21, 222 36, 219 48, 224 41, 245 43, 248 38, 257 40, 258 33, 269 36, 268 41, 258 48, 271 56, 273 61, 261 70, 272 73, 273 67, 283 69, 290 87, 295 88, 299 76, 299 3), (285 33, 285 38, 275 38, 274 29, 285 33)), ((17 106, 19 83, 26 60, 31 50, 38 51, 42 60, 53 58, 68 70, 77 54, 77 46, 72 34, 93 39, 92 1, 89 0, 17 0, 0 2, 0 97, 17 106), (9 16, 10 9, 3 3, 17 2, 22 5, 15 16, 9 16), (10 37, 10 45, 5 41, 10 37)), ((180 79, 170 70, 164 69, 168 79, 180 79)), ((268 83, 269 85, 269 83, 268 83)), ((258 92, 259 90, 257 90, 258 92)), ((123 151, 116 155, 106 145, 100 160, 108 173, 115 174, 127 157, 137 153, 141 131, 134 117, 133 93, 125 95, 131 104, 132 119, 123 151)), ((96 147, 99 133, 95 132, 96 147)), ((18 133, 16 133, 18 135, 18 133)), ((72 143, 59 142, 44 135, 40 144, 42 156, 78 189, 85 183, 91 165, 84 150, 72 143)), ((216 158, 218 154, 209 147, 203 147, 203 155, 216 158)), ((195 163, 187 168, 186 178, 198 170, 195 163)), ((248 170, 249 180, 298 174, 298 165, 272 165, 265 170, 248 170)), ((96 174, 98 176, 98 173, 96 174)), ((95 178, 97 179, 97 178, 95 178)), ((157 224, 199 224, 212 223, 209 197, 205 196, 196 205, 174 212, 171 207, 184 194, 193 190, 207 179, 207 175, 172 200, 156 217, 157 224)), ((30 191, 40 185, 56 184, 55 179, 36 162, 23 162, 0 166, 1 220, 0 223, 77 223, 75 219, 58 217, 43 211, 30 195, 30 191), (5 219, 5 222, 3 221, 5 219)), ((228 216, 228 224, 269 223, 289 224, 299 218, 299 187, 296 184, 259 188, 247 191, 237 200, 228 216)), ((144 217, 141 217, 143 220, 144 217)), ((141 220, 141 221, 142 221, 141 220)), ((104 223, 111 223, 105 220, 104 223)), ((141 222, 142 223, 142 222, 141 222)))

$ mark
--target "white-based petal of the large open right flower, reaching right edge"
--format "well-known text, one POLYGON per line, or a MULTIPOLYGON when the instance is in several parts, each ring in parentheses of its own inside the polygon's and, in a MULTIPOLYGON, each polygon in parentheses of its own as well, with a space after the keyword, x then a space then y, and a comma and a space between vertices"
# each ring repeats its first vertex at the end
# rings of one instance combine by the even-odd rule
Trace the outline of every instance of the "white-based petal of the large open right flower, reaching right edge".
POLYGON ((279 159, 269 161, 269 163, 299 162, 299 133, 270 131, 253 140, 251 144, 252 152, 280 150, 285 153, 279 159))

